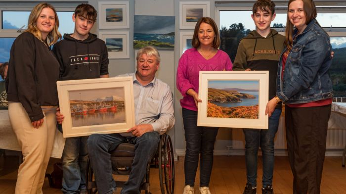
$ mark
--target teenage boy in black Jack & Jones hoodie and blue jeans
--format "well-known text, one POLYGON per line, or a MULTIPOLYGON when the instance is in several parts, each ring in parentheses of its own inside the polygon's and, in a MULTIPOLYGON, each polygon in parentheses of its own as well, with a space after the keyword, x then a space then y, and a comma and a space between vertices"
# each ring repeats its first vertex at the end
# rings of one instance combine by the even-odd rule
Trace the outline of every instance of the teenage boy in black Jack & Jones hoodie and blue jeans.
MULTIPOLYGON (((97 12, 89 4, 76 7, 72 20, 73 34, 64 34, 64 40, 56 43, 53 52, 60 63, 61 80, 108 78, 108 52, 104 41, 91 34, 97 12)), ((87 138, 66 138, 62 153, 64 194, 87 194, 87 138)))

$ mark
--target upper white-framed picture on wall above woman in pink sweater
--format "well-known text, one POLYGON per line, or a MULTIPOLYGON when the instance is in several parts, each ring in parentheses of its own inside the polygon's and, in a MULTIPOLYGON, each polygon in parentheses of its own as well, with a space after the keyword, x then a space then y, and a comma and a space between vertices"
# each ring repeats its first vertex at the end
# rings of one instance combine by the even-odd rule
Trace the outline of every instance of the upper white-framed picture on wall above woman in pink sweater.
POLYGON ((201 17, 210 17, 209 1, 180 1, 179 28, 194 29, 201 17))

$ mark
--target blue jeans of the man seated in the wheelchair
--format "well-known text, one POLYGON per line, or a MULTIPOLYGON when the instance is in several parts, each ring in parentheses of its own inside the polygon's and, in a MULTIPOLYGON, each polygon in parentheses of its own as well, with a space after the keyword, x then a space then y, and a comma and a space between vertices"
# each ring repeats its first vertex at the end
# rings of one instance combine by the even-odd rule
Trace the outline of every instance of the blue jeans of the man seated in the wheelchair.
POLYGON ((119 134, 93 134, 87 141, 89 157, 94 171, 99 194, 112 194, 116 183, 112 177, 111 150, 121 143, 135 144, 134 159, 129 180, 121 194, 140 194, 140 185, 146 175, 148 162, 154 157, 160 142, 157 132, 148 132, 141 137, 123 137, 119 134))

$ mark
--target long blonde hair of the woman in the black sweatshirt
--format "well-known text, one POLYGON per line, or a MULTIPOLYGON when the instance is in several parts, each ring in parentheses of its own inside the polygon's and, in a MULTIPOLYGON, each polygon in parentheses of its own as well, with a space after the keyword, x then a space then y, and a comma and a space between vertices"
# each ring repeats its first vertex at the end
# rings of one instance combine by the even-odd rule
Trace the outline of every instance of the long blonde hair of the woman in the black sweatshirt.
POLYGON ((55 15, 55 25, 53 27, 53 30, 50 31, 47 35, 47 40, 46 43, 51 46, 55 44, 60 38, 61 34, 58 31, 59 28, 59 18, 58 15, 56 14, 55 8, 46 2, 42 2, 40 4, 37 4, 33 10, 30 13, 29 20, 28 20, 28 29, 26 32, 32 33, 36 38, 41 40, 42 42, 45 42, 45 40, 42 40, 42 34, 41 31, 37 28, 36 26, 36 21, 40 16, 40 13, 42 12, 43 8, 51 8, 54 11, 55 15))

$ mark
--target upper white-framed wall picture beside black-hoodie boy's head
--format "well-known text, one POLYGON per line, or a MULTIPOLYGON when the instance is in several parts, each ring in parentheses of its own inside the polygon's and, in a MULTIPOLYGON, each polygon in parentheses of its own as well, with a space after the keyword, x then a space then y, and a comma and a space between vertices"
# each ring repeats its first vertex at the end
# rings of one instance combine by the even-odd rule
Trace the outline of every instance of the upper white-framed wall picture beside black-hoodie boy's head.
POLYGON ((129 1, 99 1, 99 29, 130 28, 129 1))

